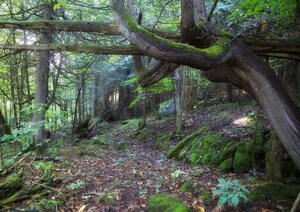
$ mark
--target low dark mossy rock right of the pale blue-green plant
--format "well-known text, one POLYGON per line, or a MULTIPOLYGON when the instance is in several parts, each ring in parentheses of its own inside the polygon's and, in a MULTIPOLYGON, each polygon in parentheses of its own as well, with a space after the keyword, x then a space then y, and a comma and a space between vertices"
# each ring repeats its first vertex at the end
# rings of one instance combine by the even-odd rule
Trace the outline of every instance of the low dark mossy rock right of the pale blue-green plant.
POLYGON ((260 202, 266 200, 288 200, 293 202, 300 192, 300 186, 283 183, 263 183, 257 185, 251 192, 249 200, 260 202))

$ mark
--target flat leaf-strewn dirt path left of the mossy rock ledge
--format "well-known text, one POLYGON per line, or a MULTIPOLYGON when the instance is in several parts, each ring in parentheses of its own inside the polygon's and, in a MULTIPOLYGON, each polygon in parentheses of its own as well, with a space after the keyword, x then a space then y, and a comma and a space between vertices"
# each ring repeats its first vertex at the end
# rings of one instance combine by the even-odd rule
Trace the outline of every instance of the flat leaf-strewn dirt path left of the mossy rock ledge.
POLYGON ((203 203, 198 198, 199 193, 210 192, 219 177, 250 177, 225 175, 214 168, 201 168, 167 159, 165 153, 156 150, 151 143, 126 139, 125 136, 124 132, 112 139, 108 149, 94 149, 101 152, 100 158, 80 156, 78 149, 81 147, 78 146, 64 148, 65 163, 68 163, 64 169, 68 176, 64 186, 84 182, 80 188, 69 189, 65 209, 77 211, 85 207, 88 211, 146 211, 149 196, 167 193, 177 196, 191 208, 201 205, 211 211, 216 201, 203 203), (124 139, 128 147, 117 150, 118 143, 124 139), (193 182, 192 191, 182 189, 187 181, 193 182))

